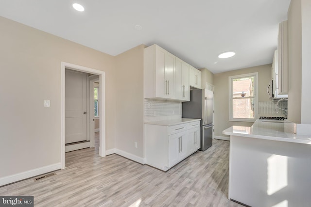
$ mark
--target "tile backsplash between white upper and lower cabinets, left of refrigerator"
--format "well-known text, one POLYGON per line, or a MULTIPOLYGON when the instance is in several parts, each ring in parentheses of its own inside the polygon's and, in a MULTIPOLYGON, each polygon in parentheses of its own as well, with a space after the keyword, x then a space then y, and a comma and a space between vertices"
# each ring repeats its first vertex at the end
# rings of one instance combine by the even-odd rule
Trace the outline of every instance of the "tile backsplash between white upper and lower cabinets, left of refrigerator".
POLYGON ((144 117, 169 115, 181 116, 179 101, 144 99, 144 117))

